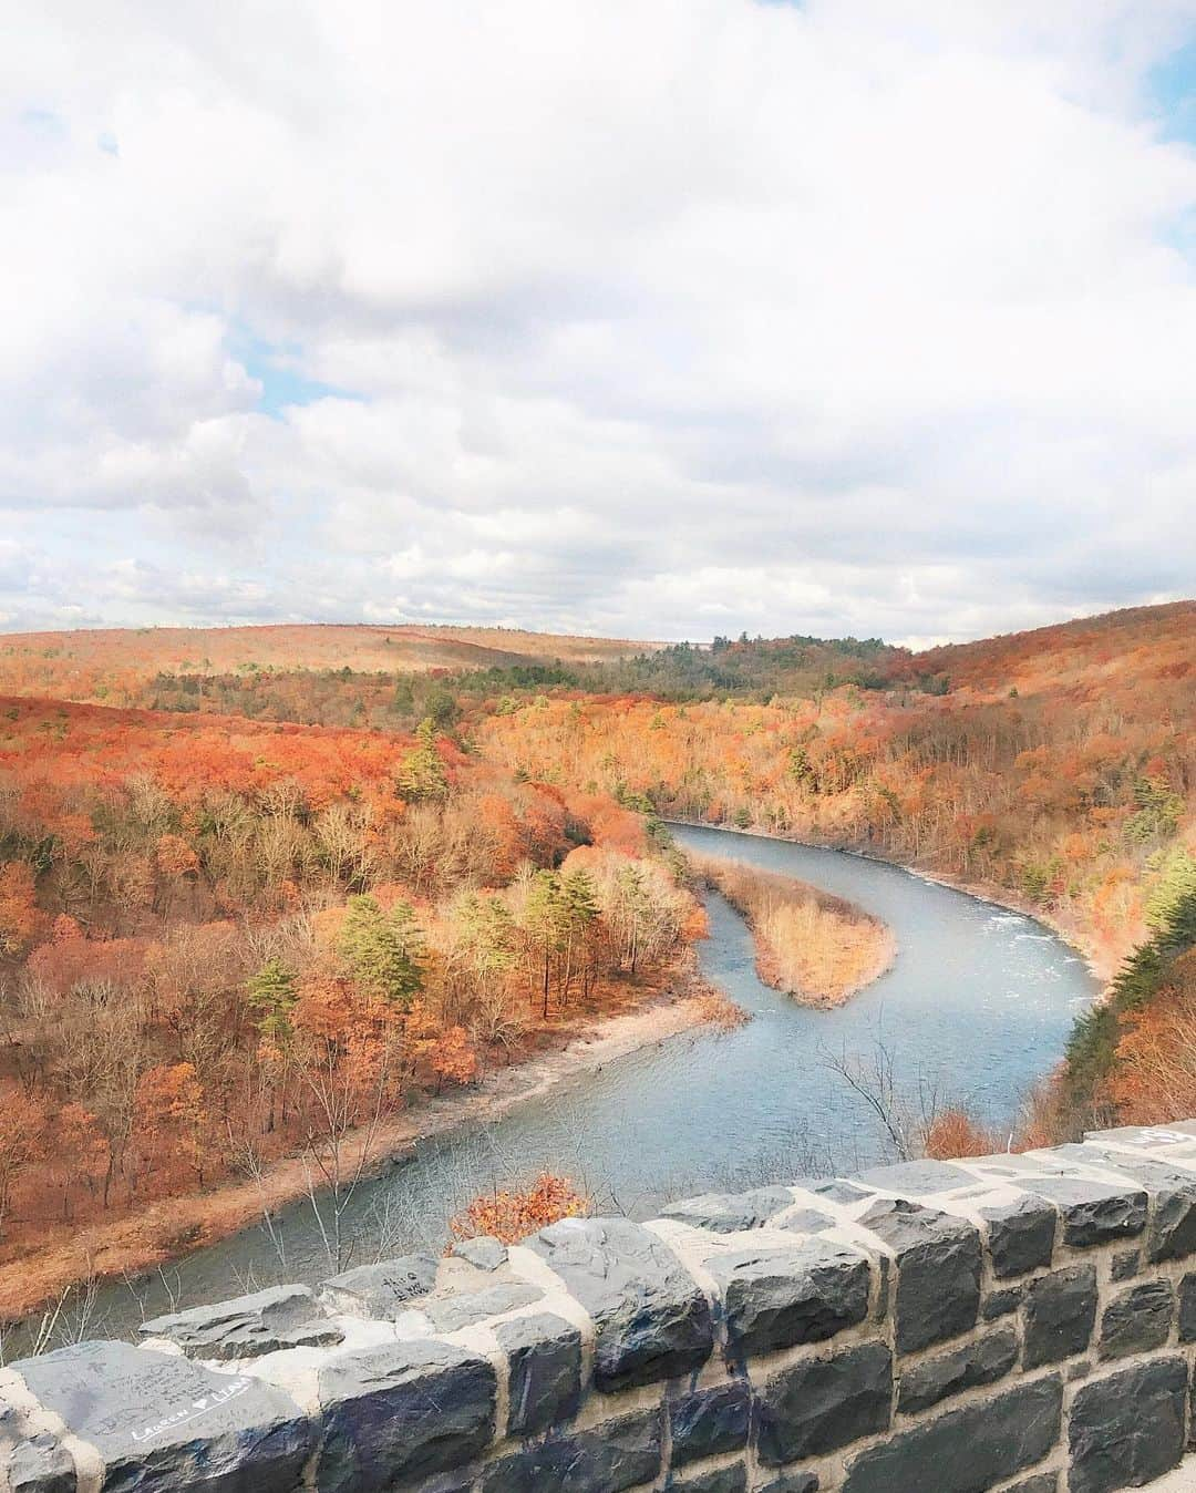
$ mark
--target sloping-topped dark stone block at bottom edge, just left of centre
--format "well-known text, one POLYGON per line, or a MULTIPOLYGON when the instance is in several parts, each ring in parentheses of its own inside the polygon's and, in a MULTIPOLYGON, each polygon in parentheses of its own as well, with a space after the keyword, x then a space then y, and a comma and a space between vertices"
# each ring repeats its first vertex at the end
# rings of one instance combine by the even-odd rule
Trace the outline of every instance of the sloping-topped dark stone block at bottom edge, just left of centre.
POLYGON ((660 1411, 549 1436, 482 1469, 478 1493, 624 1493, 660 1472, 660 1411))

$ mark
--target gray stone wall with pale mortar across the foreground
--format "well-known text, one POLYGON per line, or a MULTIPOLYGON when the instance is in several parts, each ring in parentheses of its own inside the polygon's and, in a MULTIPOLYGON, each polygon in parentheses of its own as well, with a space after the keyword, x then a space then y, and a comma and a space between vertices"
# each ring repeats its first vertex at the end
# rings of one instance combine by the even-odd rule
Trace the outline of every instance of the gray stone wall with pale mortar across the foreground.
POLYGON ((1196 1430, 1196 1123, 566 1220, 142 1333, 0 1371, 12 1493, 1136 1487, 1196 1430))

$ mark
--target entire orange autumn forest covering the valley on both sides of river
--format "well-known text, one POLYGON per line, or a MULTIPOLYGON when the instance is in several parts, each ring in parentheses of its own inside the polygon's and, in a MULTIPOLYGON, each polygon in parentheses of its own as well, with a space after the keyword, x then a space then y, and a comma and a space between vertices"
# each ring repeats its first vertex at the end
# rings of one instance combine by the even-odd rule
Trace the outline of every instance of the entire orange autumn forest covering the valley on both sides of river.
MULTIPOLYGON (((1024 1144, 1196 1114, 1196 603, 921 654, 13 635, 0 696, 0 1315, 209 1238, 172 1206, 287 1159, 336 1194, 388 1117, 612 1015, 727 1020, 670 820, 893 860, 1084 951, 1111 996, 1024 1144)), ((893 957, 850 908, 724 890, 778 988, 893 957)), ((953 1124, 941 1151, 984 1141, 953 1124)))

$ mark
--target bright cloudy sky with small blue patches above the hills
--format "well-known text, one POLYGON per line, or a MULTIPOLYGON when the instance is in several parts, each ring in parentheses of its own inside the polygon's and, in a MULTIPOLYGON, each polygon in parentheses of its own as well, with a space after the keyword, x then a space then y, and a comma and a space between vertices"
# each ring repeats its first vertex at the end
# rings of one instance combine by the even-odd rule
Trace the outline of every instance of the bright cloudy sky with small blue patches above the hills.
POLYGON ((0 9, 0 630, 1196 593, 1196 0, 0 9))

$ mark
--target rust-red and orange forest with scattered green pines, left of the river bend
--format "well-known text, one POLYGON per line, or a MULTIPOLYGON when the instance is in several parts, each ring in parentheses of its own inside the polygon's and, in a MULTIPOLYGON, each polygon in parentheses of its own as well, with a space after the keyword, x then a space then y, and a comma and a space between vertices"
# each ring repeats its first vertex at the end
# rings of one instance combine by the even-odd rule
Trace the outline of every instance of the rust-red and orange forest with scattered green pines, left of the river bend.
MULTIPOLYGON (((415 735, 0 700, 0 1263, 657 988, 644 821, 415 735)), ((19 1284, 19 1282, 18 1282, 19 1284)))

